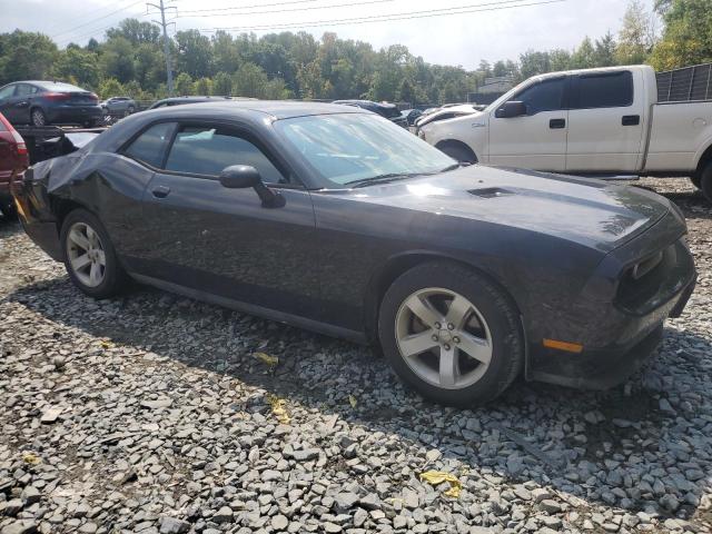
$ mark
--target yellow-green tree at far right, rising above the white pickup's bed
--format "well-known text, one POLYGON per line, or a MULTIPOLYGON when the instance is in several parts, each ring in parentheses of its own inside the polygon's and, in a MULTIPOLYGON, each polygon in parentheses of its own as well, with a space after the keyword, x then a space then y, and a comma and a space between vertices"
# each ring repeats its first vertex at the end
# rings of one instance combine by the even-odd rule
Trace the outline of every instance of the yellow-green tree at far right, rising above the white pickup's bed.
POLYGON ((662 4, 665 29, 651 56, 659 70, 712 61, 710 0, 670 0, 662 4))

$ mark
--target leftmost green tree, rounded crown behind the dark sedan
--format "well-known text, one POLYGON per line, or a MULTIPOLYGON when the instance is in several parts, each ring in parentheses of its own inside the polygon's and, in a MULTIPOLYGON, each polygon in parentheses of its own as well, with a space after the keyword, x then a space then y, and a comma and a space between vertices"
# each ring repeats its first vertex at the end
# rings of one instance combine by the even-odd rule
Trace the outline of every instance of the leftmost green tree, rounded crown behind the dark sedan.
POLYGON ((43 33, 14 30, 0 34, 0 85, 49 77, 57 44, 43 33))

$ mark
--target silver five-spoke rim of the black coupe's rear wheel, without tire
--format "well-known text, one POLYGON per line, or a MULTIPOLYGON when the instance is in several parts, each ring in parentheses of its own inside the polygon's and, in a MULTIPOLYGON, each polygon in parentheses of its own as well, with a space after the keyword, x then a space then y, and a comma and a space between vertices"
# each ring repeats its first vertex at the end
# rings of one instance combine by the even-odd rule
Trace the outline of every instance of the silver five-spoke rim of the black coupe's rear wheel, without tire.
POLYGON ((75 222, 67 235, 71 270, 87 287, 99 286, 106 276, 107 257, 99 234, 86 222, 75 222))

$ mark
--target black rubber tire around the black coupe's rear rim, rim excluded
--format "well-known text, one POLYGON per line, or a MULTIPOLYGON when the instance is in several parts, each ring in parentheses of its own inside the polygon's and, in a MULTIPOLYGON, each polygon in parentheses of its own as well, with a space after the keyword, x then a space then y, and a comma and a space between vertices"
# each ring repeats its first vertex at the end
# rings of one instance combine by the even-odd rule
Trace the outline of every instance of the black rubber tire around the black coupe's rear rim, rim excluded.
POLYGON ((72 284, 75 284, 75 286, 77 286, 85 294, 98 299, 109 298, 119 294, 126 287, 128 276, 126 275, 126 271, 117 259, 116 251, 113 250, 113 245, 109 239, 109 235, 107 234, 106 228, 98 219, 98 217, 90 211, 79 208, 75 209, 67 217, 65 217, 65 220, 62 221, 62 229, 60 233, 60 244, 62 247, 62 257, 65 260, 65 267, 67 268, 67 274, 69 275, 72 284), (81 222, 91 227, 98 234, 103 248, 103 254, 106 257, 103 278, 99 285, 93 287, 82 283, 70 264, 68 255, 69 231, 77 222, 81 222))

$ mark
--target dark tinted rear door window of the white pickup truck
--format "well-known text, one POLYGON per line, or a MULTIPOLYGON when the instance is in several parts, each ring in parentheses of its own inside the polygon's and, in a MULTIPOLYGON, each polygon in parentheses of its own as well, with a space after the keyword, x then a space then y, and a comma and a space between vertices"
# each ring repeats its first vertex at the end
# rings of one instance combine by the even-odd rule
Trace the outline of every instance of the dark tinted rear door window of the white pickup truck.
POLYGON ((633 103, 633 75, 630 70, 582 75, 571 109, 625 108, 633 103))

